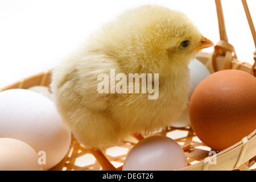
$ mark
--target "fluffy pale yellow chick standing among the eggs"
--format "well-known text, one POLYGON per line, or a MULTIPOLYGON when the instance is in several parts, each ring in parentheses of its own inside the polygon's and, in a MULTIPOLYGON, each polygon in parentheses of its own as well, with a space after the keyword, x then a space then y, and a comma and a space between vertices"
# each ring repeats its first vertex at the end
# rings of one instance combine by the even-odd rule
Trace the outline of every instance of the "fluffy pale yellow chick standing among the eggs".
MULTIPOLYGON (((183 13, 157 5, 126 11, 94 32, 55 69, 51 86, 57 109, 102 168, 114 169, 101 162, 100 149, 128 135, 162 130, 179 117, 188 102, 189 61, 210 46, 213 43, 183 13), (147 79, 151 73, 152 85, 147 82, 147 86, 158 88, 156 97, 149 99, 153 94, 149 92, 130 93, 129 85, 126 93, 117 93, 110 84, 104 88, 109 93, 100 93, 102 73, 117 86, 110 70, 115 76, 126 75, 127 83, 129 73, 144 73, 147 79)), ((137 86, 145 88, 142 81, 137 86)))

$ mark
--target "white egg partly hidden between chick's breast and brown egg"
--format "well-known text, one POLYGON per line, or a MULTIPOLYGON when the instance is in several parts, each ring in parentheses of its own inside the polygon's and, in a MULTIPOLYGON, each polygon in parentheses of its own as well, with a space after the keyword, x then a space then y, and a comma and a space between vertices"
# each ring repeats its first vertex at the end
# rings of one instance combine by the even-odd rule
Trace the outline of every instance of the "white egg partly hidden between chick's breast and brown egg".
MULTIPOLYGON (((207 69, 207 67, 205 67, 205 65, 197 59, 194 59, 193 61, 191 61, 188 67, 190 69, 190 77, 191 77, 191 86, 190 86, 189 97, 188 97, 190 100, 192 93, 196 89, 197 85, 199 85, 199 83, 202 80, 204 80, 204 78, 209 76, 210 72, 207 69)), ((171 127, 180 128, 180 127, 190 126, 189 115, 188 115, 188 105, 187 105, 187 109, 183 111, 180 117, 171 123, 171 127)))

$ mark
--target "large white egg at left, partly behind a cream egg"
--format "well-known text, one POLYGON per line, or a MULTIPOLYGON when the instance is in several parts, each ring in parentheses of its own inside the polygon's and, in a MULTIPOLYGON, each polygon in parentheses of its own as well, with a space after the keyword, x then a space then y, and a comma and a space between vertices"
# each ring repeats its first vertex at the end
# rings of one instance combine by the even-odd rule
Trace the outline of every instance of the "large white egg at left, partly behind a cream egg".
POLYGON ((49 98, 26 89, 0 92, 0 137, 28 143, 46 152, 44 169, 56 166, 67 154, 71 132, 49 98))

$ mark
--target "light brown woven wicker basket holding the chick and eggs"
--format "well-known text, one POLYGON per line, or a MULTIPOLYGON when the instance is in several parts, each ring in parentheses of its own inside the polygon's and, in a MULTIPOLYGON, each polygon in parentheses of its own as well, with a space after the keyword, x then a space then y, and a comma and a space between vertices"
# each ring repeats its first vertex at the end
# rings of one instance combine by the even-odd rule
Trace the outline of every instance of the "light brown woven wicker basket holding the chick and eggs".
MULTIPOLYGON (((246 2, 243 1, 243 3, 246 2)), ((211 72, 216 72, 222 69, 240 69, 241 71, 255 75, 255 64, 250 65, 249 63, 238 61, 236 59, 236 53, 234 52, 233 47, 228 44, 228 39, 226 38, 221 2, 216 0, 216 5, 221 35, 220 43, 216 44, 213 53, 200 53, 200 55, 197 56, 197 59, 207 65, 211 72), (228 45, 228 48, 226 45, 228 45)), ((256 63, 256 58, 254 57, 254 59, 256 63)), ((38 75, 28 77, 0 89, 0 92, 14 88, 27 89, 37 85, 47 86, 49 88, 51 83, 51 73, 52 70, 47 70, 38 75)), ((209 155, 210 148, 196 137, 196 134, 189 126, 179 129, 169 127, 163 133, 158 134, 171 137, 183 147, 185 156, 187 157, 188 166, 181 170, 256 170, 256 130, 243 138, 240 142, 214 155, 209 155), (216 164, 214 163, 214 160, 216 160, 216 164)), ((103 152, 110 162, 118 168, 123 165, 126 155, 137 142, 138 140, 133 137, 127 138, 125 141, 119 143, 118 146, 107 148, 103 152)), ((72 137, 67 155, 51 170, 100 169, 101 166, 94 156, 72 137)))

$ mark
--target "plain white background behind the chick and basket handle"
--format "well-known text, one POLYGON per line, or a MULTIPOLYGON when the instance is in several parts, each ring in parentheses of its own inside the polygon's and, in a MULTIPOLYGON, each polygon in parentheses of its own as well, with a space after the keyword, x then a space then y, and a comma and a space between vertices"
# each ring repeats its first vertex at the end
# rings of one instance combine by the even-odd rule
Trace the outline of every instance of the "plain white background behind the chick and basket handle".
MULTIPOLYGON (((206 38, 220 39, 214 0, 0 0, 0 88, 54 68, 103 23, 152 3, 184 12, 206 38)), ((256 1, 247 3, 256 24, 256 1)), ((253 64, 255 46, 241 1, 222 0, 222 8, 238 60, 253 64)))

